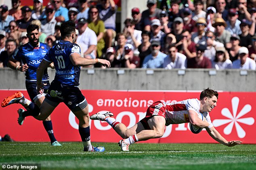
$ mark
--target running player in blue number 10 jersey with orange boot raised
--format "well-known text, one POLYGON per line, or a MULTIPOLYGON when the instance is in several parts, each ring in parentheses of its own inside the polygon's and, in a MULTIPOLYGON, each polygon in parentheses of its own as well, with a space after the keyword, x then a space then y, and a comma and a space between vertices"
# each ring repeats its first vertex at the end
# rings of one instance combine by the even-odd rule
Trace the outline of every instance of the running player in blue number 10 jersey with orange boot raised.
POLYGON ((73 43, 76 37, 76 25, 73 22, 62 23, 60 27, 61 37, 45 55, 37 69, 37 89, 40 94, 44 92, 46 85, 42 80, 44 70, 53 62, 55 65, 55 78, 51 82, 46 98, 39 108, 36 104, 24 98, 21 92, 8 96, 1 106, 6 107, 13 103, 20 103, 27 109, 22 117, 33 116, 38 120, 44 120, 58 106, 64 102, 79 120, 79 133, 84 145, 84 151, 103 152, 104 147, 93 147, 90 143, 90 127, 88 103, 78 88, 80 66, 89 66, 101 63, 107 68, 110 62, 105 59, 87 59, 81 57, 79 45, 73 43))

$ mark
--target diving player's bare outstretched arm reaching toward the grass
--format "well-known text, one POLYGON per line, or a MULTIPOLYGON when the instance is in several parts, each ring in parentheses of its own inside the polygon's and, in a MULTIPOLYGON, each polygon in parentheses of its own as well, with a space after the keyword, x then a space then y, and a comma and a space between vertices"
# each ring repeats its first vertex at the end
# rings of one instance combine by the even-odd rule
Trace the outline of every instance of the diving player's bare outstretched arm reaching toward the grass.
POLYGON ((214 140, 218 141, 223 145, 231 147, 242 143, 242 141, 227 141, 214 127, 206 128, 206 131, 214 140))

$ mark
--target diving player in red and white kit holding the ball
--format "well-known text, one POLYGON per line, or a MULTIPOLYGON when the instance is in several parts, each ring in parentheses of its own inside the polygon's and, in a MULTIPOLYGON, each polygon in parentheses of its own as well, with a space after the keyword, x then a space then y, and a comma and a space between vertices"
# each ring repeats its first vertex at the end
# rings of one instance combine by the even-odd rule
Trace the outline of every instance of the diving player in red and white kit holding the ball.
POLYGON ((129 151, 129 145, 137 141, 145 141, 162 137, 165 126, 170 124, 191 123, 193 126, 206 128, 209 135, 227 146, 235 146, 242 141, 227 141, 214 128, 209 112, 216 107, 218 92, 209 88, 203 90, 200 99, 187 99, 179 102, 154 102, 148 107, 146 117, 131 128, 127 128, 113 118, 113 113, 92 115, 90 119, 106 121, 123 139, 119 141, 121 150, 129 151), (204 115, 204 121, 199 119, 197 113, 204 115))

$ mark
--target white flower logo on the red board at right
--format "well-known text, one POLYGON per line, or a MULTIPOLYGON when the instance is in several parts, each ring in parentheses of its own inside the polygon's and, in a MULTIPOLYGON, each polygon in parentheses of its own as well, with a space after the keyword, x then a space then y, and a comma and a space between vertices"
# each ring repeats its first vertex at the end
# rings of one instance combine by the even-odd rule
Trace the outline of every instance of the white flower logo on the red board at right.
POLYGON ((239 125, 239 123, 243 123, 246 125, 253 125, 254 124, 254 118, 253 117, 247 117, 247 118, 242 118, 243 115, 246 115, 249 113, 252 109, 250 104, 246 104, 243 109, 237 114, 237 108, 239 104, 239 98, 238 97, 233 97, 231 100, 232 103, 232 110, 233 110, 233 115, 229 111, 228 108, 223 108, 221 110, 221 115, 227 117, 228 119, 215 119, 212 123, 214 124, 215 127, 225 125, 229 123, 225 128, 224 128, 224 134, 229 135, 233 129, 233 126, 235 124, 235 128, 237 130, 237 135, 239 138, 244 138, 246 136, 246 132, 243 130, 243 128, 239 125))

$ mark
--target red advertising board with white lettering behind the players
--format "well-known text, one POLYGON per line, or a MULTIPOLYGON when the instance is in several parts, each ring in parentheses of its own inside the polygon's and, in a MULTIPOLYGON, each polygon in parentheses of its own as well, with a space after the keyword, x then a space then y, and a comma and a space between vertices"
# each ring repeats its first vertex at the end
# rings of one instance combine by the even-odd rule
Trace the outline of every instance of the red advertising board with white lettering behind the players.
MULTIPOLYGON (((0 90, 0 100, 13 94, 14 90, 0 90)), ((25 97, 28 94, 22 91, 25 97)), ((199 91, 120 91, 120 90, 82 90, 89 104, 90 115, 111 111, 114 117, 133 126, 145 116, 147 107, 156 100, 179 101, 199 98, 199 91)), ((217 107, 210 113, 215 128, 227 140, 241 140, 243 143, 256 143, 256 92, 219 92, 217 107)), ((0 109, 0 135, 9 134, 15 141, 49 141, 41 121, 27 117, 22 126, 17 123, 17 110, 20 104, 12 104, 0 109)), ((53 111, 52 124, 58 141, 81 141, 78 133, 78 120, 63 104, 53 111)), ((121 137, 105 122, 91 121, 91 141, 118 142, 121 137)), ((150 139, 151 143, 216 143, 203 130, 193 134, 188 123, 169 125, 164 136, 150 139)))

